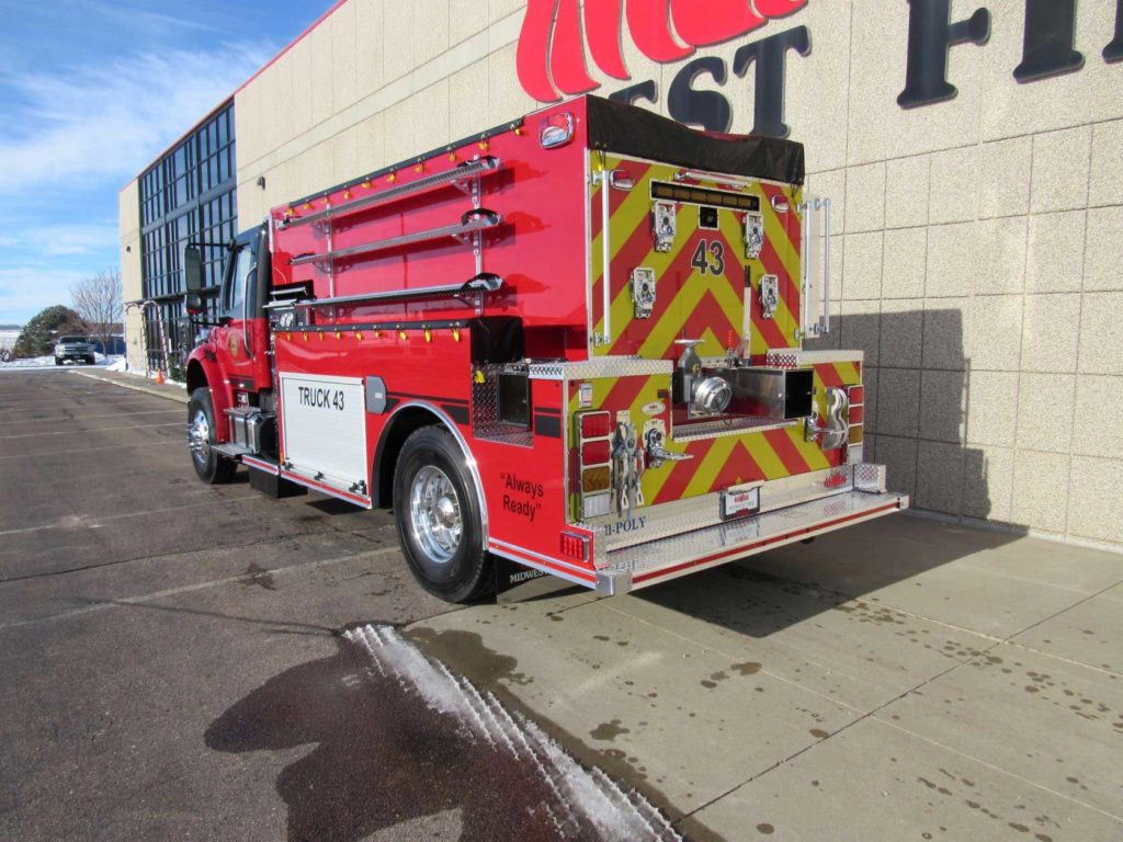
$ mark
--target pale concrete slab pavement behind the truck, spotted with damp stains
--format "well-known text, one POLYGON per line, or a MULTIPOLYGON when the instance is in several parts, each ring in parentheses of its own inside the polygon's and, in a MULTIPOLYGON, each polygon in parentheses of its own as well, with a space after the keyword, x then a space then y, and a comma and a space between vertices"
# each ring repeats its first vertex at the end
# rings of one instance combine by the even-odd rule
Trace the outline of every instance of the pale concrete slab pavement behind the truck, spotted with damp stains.
POLYGON ((1123 839, 1123 557, 886 518, 405 630, 690 839, 1123 839))

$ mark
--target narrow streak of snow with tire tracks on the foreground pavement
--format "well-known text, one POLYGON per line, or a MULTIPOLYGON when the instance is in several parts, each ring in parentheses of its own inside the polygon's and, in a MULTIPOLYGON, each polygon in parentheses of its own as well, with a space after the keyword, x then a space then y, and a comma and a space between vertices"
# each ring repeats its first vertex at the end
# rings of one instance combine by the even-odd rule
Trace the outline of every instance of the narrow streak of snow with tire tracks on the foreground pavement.
POLYGON ((509 712, 491 693, 454 675, 393 628, 365 625, 346 638, 366 651, 382 676, 398 680, 430 710, 453 716, 467 733, 533 769, 554 794, 554 803, 546 806, 565 838, 587 839, 591 827, 605 840, 681 842, 642 795, 626 793, 600 769, 582 767, 533 722, 509 712))

